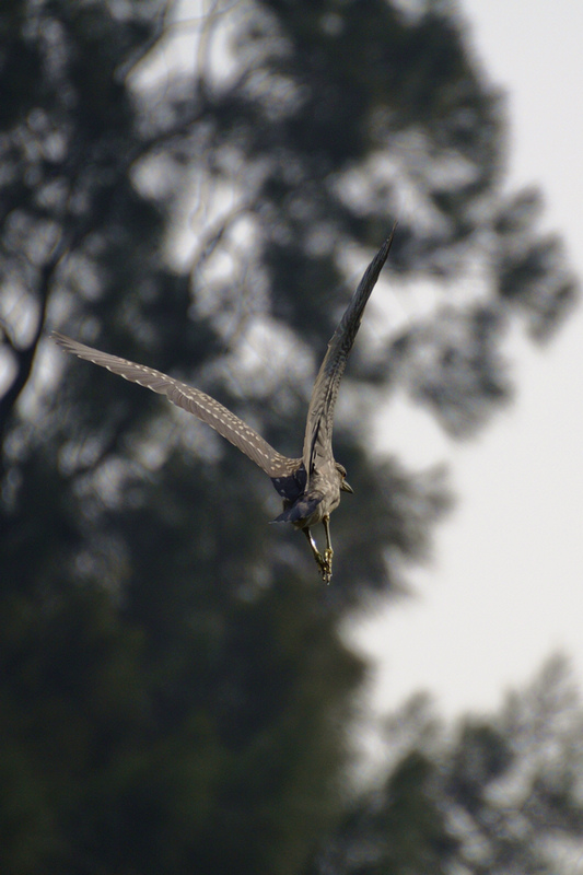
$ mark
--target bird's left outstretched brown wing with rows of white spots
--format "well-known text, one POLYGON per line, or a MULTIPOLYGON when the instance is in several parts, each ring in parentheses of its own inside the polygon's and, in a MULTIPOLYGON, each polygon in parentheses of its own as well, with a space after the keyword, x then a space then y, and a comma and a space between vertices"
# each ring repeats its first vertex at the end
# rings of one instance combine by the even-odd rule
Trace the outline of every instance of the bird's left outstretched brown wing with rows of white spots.
POLYGON ((260 434, 250 429, 242 419, 236 417, 222 404, 215 401, 210 395, 206 395, 186 383, 180 383, 161 371, 147 368, 143 364, 135 364, 127 359, 117 355, 109 355, 107 352, 100 352, 97 349, 86 347, 77 340, 54 331, 54 340, 67 352, 86 359, 89 362, 106 368, 114 374, 119 374, 124 380, 131 383, 139 383, 140 386, 152 389, 160 395, 165 395, 168 400, 177 407, 182 407, 189 413, 194 413, 202 422, 207 422, 220 435, 231 441, 242 453, 245 453, 252 462, 255 462, 269 477, 287 476, 296 470, 302 459, 291 459, 282 456, 265 441, 260 434))

